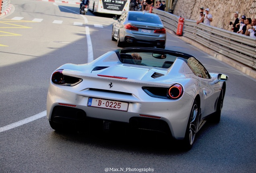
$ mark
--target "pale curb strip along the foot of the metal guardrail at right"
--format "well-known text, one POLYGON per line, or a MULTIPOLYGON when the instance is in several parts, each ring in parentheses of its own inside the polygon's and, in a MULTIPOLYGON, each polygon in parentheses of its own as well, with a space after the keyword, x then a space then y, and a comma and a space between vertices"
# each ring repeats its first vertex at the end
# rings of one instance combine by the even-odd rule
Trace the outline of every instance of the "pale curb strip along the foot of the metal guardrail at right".
POLYGON ((228 58, 227 56, 224 56, 218 52, 215 52, 214 50, 211 50, 211 49, 203 46, 202 44, 199 44, 199 43, 195 42, 194 40, 191 40, 190 38, 186 38, 184 36, 177 36, 176 34, 174 34, 174 32, 172 30, 167 30, 167 32, 169 32, 173 36, 176 36, 177 38, 180 38, 181 40, 183 40, 189 44, 192 44, 193 46, 196 46, 200 50, 206 52, 207 54, 210 54, 211 56, 215 57, 218 60, 225 62, 226 64, 229 64, 230 66, 247 74, 248 76, 251 76, 252 78, 256 78, 256 71, 253 70, 252 68, 250 68, 244 64, 241 64, 235 60, 232 60, 231 58, 228 58))

